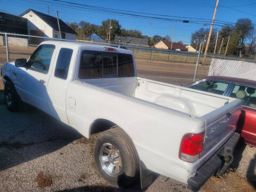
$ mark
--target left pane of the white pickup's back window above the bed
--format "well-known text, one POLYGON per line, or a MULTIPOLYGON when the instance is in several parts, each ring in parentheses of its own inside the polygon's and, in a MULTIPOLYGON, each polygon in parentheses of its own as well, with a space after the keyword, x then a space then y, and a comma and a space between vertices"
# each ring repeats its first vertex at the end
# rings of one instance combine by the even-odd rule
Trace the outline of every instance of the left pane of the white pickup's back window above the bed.
POLYGON ((102 53, 100 51, 82 51, 78 77, 80 79, 102 78, 102 53))

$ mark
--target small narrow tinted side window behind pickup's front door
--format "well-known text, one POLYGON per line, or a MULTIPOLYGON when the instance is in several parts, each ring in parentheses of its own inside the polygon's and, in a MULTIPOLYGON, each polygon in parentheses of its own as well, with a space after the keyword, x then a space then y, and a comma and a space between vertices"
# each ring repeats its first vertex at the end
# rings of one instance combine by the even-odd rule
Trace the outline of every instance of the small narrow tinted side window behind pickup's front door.
POLYGON ((70 60, 73 50, 61 48, 57 59, 54 76, 62 79, 67 79, 70 60))

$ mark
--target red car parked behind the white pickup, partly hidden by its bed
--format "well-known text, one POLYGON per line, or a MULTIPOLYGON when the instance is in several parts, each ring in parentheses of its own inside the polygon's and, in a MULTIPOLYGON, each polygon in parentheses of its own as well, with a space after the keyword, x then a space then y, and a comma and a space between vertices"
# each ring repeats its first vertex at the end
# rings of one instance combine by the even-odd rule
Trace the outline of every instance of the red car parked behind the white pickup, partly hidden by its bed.
POLYGON ((246 144, 256 147, 256 81, 234 77, 207 76, 187 85, 187 87, 243 100, 237 131, 246 144))

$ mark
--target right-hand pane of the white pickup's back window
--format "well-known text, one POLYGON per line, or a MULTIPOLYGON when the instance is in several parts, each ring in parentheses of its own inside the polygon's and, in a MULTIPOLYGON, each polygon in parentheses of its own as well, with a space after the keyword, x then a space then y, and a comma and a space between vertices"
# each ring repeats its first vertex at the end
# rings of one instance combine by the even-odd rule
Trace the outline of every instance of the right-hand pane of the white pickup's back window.
POLYGON ((119 77, 134 76, 134 65, 131 54, 118 54, 118 75, 119 77))

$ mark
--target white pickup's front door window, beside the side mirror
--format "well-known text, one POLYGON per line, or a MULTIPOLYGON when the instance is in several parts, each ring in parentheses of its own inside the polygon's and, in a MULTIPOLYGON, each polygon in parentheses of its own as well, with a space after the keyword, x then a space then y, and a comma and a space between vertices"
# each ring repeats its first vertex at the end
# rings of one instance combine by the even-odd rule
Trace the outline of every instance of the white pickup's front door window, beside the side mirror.
POLYGON ((31 55, 29 65, 31 69, 36 69, 47 73, 50 68, 54 45, 41 45, 31 55))

